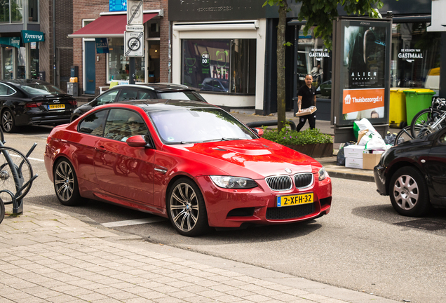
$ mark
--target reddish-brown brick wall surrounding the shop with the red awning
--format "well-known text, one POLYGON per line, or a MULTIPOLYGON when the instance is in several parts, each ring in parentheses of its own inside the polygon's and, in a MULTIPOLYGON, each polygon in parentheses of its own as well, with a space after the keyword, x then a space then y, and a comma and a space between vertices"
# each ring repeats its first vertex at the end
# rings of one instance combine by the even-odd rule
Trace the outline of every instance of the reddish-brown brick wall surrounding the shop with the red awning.
MULTIPOLYGON (((144 0, 144 10, 164 9, 164 17, 161 18, 160 24, 160 81, 168 81, 168 0, 144 0)), ((100 13, 109 11, 109 0, 76 0, 73 1, 73 32, 82 27, 83 19, 97 19, 100 13)), ((82 39, 73 40, 73 65, 79 67, 79 88, 82 88, 82 39)), ((95 61, 96 65, 96 86, 107 86, 107 59, 104 54, 96 54, 99 61, 95 61)))

